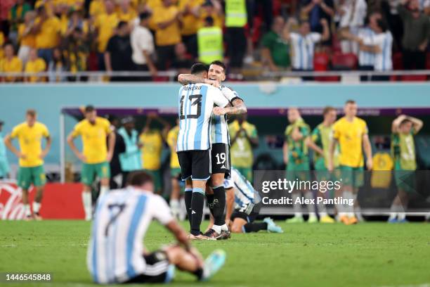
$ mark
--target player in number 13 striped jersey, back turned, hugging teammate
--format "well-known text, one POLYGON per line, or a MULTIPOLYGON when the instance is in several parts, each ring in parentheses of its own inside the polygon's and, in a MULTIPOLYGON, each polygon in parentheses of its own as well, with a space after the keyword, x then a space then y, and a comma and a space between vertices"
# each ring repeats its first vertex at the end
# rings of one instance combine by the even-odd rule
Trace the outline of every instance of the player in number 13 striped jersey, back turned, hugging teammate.
MULTIPOLYGON (((191 67, 193 75, 207 77, 206 65, 191 67)), ((211 116, 225 115, 228 99, 209 84, 187 84, 178 93, 179 132, 176 152, 185 180, 185 205, 190 219, 190 238, 209 239, 200 234, 204 189, 211 176, 211 116), (217 108, 214 108, 214 105, 217 108)))

